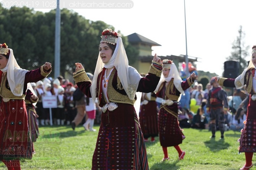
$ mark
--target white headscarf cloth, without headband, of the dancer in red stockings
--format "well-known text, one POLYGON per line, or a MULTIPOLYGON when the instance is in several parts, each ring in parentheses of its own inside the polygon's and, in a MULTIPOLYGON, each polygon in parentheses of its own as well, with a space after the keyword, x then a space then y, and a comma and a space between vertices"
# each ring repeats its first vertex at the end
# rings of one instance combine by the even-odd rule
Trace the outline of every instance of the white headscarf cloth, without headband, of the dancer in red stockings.
POLYGON ((182 82, 182 79, 180 77, 180 74, 178 72, 178 69, 176 67, 176 65, 172 62, 171 64, 171 67, 170 67, 170 71, 169 71, 169 75, 167 78, 164 77, 163 73, 161 75, 161 78, 159 80, 159 83, 157 84, 157 87, 156 87, 156 90, 155 92, 158 92, 159 91, 159 87, 161 86, 161 84, 164 82, 164 81, 167 81, 169 82, 171 79, 173 78, 173 84, 174 86, 176 87, 176 89, 181 93, 181 94, 184 94, 184 91, 181 87, 181 82, 182 82))

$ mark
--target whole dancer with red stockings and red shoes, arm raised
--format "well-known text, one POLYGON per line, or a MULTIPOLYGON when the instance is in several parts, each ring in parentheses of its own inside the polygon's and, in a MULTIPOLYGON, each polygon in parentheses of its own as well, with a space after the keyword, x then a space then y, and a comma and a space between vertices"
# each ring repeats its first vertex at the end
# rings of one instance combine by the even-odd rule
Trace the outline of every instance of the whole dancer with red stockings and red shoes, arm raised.
POLYGON ((159 140, 164 151, 162 161, 170 159, 167 152, 169 146, 174 146, 178 151, 178 159, 181 160, 185 156, 185 151, 180 149, 179 144, 185 136, 178 123, 178 98, 194 83, 196 74, 192 73, 183 81, 172 60, 164 59, 162 63, 163 73, 156 88, 156 101, 162 103, 158 115, 159 140))

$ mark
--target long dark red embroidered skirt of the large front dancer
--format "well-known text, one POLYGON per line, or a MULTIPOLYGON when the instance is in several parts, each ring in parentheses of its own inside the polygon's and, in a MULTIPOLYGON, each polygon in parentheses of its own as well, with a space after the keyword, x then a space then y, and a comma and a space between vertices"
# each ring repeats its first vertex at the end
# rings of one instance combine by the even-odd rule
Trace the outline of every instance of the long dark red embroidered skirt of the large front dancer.
POLYGON ((146 146, 133 105, 101 115, 92 170, 148 170, 146 146))

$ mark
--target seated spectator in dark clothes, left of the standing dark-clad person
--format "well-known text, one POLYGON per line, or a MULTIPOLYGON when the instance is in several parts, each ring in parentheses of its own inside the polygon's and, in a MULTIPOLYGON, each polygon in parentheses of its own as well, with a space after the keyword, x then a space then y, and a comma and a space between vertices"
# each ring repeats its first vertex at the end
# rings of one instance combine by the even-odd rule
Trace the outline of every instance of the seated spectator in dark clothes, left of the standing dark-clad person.
POLYGON ((194 115, 191 127, 195 129, 207 129, 208 128, 208 121, 204 116, 204 106, 206 102, 202 102, 201 106, 198 108, 196 115, 194 115))

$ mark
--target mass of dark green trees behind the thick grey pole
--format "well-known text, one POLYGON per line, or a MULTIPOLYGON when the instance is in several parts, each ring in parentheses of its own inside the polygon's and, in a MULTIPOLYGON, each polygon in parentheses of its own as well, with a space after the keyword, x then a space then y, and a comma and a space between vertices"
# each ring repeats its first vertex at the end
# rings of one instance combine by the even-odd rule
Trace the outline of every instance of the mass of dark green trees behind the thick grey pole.
MULTIPOLYGON (((13 49, 21 68, 33 70, 46 61, 54 67, 55 12, 36 12, 27 7, 5 9, 0 3, 0 43, 6 43, 13 49)), ((86 71, 94 73, 100 36, 106 28, 115 30, 103 21, 90 21, 72 10, 61 10, 61 75, 72 75, 76 62, 82 63, 86 71)), ((138 50, 128 43, 127 37, 122 40, 129 62, 133 63, 138 50)), ((51 75, 54 75, 54 69, 51 75)))

